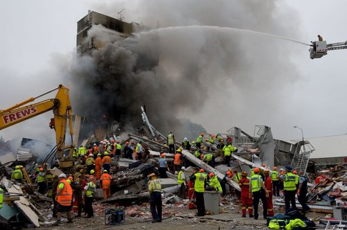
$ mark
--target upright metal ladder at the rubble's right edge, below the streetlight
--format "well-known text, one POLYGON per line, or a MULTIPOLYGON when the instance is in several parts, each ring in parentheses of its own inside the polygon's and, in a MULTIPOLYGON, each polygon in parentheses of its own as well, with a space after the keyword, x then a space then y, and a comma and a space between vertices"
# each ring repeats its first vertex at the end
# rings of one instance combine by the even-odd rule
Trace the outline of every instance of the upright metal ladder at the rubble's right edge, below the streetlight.
POLYGON ((310 141, 299 141, 298 143, 296 143, 296 150, 291 161, 291 167, 296 169, 296 171, 298 172, 303 171, 305 175, 308 162, 310 161, 311 153, 314 150, 315 149, 311 145, 310 141))

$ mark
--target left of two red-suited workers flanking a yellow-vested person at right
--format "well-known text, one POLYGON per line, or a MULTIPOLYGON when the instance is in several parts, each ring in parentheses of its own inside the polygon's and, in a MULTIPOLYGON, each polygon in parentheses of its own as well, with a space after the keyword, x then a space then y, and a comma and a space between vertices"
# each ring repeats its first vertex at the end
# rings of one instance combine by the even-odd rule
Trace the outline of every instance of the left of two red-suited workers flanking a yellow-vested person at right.
POLYGON ((241 202, 242 202, 242 217, 246 218, 246 209, 248 209, 248 215, 253 218, 253 206, 252 199, 249 196, 249 178, 248 172, 241 172, 241 179, 239 179, 239 186, 241 188, 241 202))

